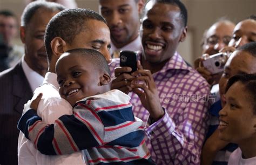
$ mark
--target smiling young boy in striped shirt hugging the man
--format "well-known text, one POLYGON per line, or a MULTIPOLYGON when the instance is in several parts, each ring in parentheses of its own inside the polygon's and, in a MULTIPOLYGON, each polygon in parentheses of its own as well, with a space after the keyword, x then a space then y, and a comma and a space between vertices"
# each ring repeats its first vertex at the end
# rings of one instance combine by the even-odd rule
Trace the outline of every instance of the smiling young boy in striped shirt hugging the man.
POLYGON ((101 53, 70 50, 58 59, 56 73, 59 93, 73 106, 74 114, 46 125, 33 110, 38 97, 18 123, 40 152, 59 155, 86 149, 86 164, 154 164, 130 97, 110 91, 109 65, 101 53))

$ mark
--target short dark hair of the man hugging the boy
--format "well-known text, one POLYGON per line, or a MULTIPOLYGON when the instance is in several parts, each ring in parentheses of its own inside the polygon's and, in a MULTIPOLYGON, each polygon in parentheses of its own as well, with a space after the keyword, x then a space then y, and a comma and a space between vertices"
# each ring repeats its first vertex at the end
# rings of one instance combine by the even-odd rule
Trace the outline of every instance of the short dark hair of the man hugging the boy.
POLYGON ((89 9, 66 9, 53 16, 46 27, 44 36, 48 59, 51 60, 52 56, 51 41, 53 38, 60 37, 70 44, 76 35, 86 30, 84 23, 91 19, 107 24, 106 20, 99 13, 89 9))

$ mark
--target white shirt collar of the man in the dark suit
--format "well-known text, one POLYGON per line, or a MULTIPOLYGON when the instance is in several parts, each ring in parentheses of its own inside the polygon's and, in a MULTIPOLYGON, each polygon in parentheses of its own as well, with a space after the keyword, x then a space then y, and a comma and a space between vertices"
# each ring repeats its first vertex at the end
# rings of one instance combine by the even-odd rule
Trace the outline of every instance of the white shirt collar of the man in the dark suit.
POLYGON ((29 65, 26 64, 24 56, 22 57, 22 68, 26 75, 26 79, 29 81, 32 92, 35 91, 38 86, 42 85, 44 77, 38 74, 36 71, 32 70, 29 65))

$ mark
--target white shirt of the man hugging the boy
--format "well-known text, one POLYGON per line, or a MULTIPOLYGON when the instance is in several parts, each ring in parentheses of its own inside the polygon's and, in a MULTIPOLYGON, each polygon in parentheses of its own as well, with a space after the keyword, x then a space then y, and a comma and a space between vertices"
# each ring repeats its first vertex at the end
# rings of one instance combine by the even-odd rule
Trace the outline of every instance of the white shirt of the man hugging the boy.
MULTIPOLYGON (((35 95, 43 93, 42 100, 39 102, 37 114, 44 122, 54 123, 64 114, 73 114, 72 106, 68 101, 62 99, 58 93, 59 85, 55 73, 46 73, 43 85, 38 87, 35 95)), ((76 152, 61 156, 47 156, 41 154, 33 143, 25 138, 20 132, 18 139, 18 163, 22 164, 85 164, 82 152, 76 152)))

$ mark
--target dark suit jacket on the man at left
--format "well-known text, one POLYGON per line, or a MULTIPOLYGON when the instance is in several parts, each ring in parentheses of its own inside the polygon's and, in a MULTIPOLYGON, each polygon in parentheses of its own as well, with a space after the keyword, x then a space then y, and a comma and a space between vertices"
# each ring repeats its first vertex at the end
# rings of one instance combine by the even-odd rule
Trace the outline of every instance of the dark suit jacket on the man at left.
POLYGON ((32 98, 32 91, 21 61, 0 73, 0 164, 17 164, 19 130, 23 106, 32 98))

